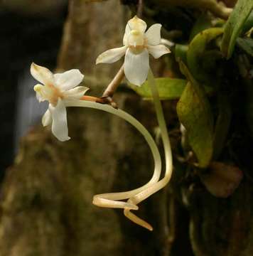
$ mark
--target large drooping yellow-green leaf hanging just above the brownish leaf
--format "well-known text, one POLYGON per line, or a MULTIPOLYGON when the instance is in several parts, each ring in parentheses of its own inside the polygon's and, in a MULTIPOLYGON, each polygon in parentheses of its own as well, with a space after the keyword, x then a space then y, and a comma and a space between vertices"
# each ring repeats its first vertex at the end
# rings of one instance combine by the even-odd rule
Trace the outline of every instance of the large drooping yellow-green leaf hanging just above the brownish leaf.
POLYGON ((208 166, 213 151, 213 117, 205 90, 196 82, 181 62, 181 72, 188 83, 178 101, 180 122, 187 131, 188 141, 198 159, 200 168, 208 166))

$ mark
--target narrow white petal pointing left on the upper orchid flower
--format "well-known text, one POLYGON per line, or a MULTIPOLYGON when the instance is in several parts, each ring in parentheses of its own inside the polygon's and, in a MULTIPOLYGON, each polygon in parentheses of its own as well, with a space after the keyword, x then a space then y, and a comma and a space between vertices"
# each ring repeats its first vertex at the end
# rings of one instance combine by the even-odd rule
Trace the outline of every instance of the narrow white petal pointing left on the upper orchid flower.
POLYGON ((126 46, 114 48, 101 53, 96 60, 96 64, 98 63, 114 63, 115 61, 122 58, 122 56, 126 53, 126 46))

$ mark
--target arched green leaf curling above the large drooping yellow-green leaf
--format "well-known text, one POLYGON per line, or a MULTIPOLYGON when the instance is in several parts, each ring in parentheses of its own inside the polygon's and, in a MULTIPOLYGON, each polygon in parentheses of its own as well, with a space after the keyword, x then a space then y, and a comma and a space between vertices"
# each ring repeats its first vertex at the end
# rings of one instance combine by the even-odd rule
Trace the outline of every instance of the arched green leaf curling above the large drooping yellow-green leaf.
POLYGON ((213 47, 212 54, 209 55, 208 58, 205 54, 207 53, 210 42, 222 33, 223 28, 208 28, 198 33, 190 42, 187 52, 188 68, 193 76, 201 82, 210 83, 210 80, 213 78, 211 72, 212 70, 216 70, 216 61, 222 56, 218 54, 220 52, 217 50, 214 54, 215 47, 213 47))

